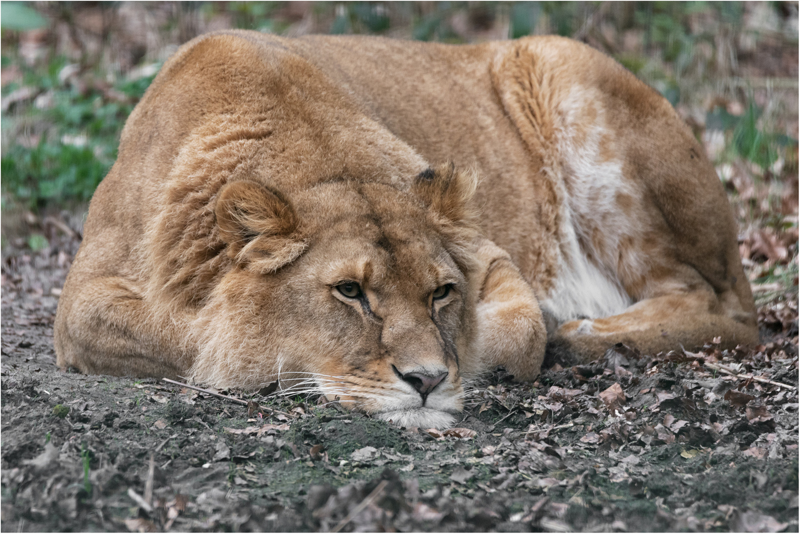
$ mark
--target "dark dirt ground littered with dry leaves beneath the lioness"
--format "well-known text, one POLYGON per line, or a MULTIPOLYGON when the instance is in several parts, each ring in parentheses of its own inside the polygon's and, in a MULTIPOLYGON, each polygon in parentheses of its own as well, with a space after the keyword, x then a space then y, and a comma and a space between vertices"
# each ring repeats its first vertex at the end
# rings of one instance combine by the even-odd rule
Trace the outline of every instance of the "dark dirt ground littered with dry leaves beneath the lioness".
POLYGON ((794 298, 762 306, 764 345, 618 347, 533 385, 498 371, 470 385, 457 428, 426 432, 58 370, 77 248, 51 229, 41 252, 4 250, 4 532, 798 532, 794 298))

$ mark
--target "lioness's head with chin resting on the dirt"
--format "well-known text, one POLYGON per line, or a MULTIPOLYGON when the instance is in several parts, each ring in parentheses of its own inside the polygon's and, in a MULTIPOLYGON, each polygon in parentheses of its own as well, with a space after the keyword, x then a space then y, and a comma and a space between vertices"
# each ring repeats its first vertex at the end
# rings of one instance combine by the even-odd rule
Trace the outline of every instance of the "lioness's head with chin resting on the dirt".
POLYGON ((450 424, 474 323, 473 234, 453 202, 438 202, 442 185, 463 196, 470 184, 455 182, 468 178, 444 175, 410 192, 336 181, 291 201, 254 182, 223 189, 218 224, 238 264, 202 313, 209 349, 194 378, 254 388, 278 378, 395 424, 450 424), (288 222, 259 227, 258 205, 288 222))

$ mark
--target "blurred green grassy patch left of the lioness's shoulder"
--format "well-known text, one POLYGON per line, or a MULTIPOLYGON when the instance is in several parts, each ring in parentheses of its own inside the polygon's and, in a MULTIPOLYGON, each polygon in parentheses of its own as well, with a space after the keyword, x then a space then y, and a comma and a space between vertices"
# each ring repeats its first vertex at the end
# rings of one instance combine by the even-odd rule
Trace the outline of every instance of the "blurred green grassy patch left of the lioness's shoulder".
POLYGON ((55 58, 23 67, 22 82, 3 88, 3 96, 21 86, 38 93, 3 115, 3 129, 17 133, 0 161, 4 204, 6 197, 29 208, 87 201, 114 163, 122 126, 154 74, 108 87, 100 76, 67 75, 80 68, 55 58))

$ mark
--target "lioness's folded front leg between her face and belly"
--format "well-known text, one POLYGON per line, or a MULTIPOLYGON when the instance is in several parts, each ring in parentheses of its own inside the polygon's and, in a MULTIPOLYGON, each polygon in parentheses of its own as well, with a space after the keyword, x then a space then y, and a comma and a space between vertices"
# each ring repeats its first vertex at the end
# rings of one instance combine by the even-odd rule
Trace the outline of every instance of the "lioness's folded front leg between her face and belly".
POLYGON ((476 306, 477 335, 466 373, 502 365, 517 380, 538 377, 546 329, 534 290, 505 250, 489 240, 478 245, 482 281, 476 306))

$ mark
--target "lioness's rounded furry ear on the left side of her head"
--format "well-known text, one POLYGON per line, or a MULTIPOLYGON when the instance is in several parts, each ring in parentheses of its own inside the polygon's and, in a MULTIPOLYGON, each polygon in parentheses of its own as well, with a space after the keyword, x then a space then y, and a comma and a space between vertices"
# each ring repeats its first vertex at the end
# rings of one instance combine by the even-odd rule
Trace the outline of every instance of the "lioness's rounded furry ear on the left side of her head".
POLYGON ((222 187, 215 214, 228 255, 248 270, 274 272, 306 249, 290 201, 254 181, 222 187))

